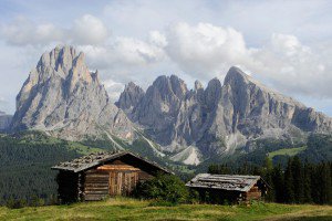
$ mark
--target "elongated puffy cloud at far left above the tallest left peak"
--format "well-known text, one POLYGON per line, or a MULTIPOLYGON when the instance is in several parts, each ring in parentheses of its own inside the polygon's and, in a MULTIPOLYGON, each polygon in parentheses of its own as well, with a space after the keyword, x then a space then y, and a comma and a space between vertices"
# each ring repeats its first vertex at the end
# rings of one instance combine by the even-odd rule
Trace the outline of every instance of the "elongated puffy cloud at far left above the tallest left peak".
POLYGON ((18 17, 2 24, 0 33, 7 43, 18 46, 48 45, 56 43, 102 44, 108 38, 104 23, 91 14, 74 20, 69 29, 53 23, 35 23, 24 17, 18 17))

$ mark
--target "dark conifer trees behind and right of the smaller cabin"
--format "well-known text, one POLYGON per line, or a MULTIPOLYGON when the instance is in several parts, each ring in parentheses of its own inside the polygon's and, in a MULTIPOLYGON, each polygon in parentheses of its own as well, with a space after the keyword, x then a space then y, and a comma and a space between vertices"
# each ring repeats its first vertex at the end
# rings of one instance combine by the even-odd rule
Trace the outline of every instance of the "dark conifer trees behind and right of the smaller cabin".
POLYGON ((210 165, 210 173, 238 173, 261 176, 271 187, 267 201, 280 203, 332 203, 332 162, 311 164, 298 156, 288 159, 287 166, 273 166, 266 158, 262 167, 243 164, 238 168, 210 165))

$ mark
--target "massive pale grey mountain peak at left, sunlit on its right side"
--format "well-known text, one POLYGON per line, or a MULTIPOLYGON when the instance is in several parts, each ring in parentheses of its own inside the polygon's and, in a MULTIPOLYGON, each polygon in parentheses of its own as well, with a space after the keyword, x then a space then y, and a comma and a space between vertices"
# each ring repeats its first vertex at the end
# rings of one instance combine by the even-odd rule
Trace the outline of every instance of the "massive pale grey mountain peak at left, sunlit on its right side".
POLYGON ((108 99, 97 72, 71 46, 44 53, 17 96, 13 130, 34 128, 66 139, 98 135, 133 136, 131 122, 108 99))

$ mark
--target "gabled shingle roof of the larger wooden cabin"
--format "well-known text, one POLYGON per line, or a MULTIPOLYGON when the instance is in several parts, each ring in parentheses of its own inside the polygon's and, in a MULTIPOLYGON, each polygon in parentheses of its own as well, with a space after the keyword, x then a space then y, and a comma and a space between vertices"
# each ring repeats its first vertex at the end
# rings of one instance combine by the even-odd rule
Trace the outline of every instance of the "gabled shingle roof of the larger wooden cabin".
POLYGON ((114 159, 123 157, 125 155, 129 155, 134 158, 145 161, 145 162, 149 164, 152 167, 163 170, 164 172, 173 173, 173 172, 168 171, 166 168, 160 167, 156 162, 148 161, 147 159, 145 159, 141 156, 137 156, 133 152, 121 151, 121 150, 92 152, 90 155, 73 159, 71 161, 60 162, 59 165, 53 166, 52 169, 80 172, 80 171, 93 168, 95 166, 104 165, 104 162, 114 160, 114 159))

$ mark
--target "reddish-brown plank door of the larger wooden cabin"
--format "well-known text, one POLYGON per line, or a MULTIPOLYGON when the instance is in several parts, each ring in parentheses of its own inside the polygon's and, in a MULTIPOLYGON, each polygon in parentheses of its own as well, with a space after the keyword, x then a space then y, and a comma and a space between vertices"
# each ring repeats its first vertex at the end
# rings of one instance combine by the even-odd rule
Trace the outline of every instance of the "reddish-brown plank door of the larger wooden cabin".
POLYGON ((111 171, 110 194, 127 196, 135 188, 138 180, 137 171, 111 171))

